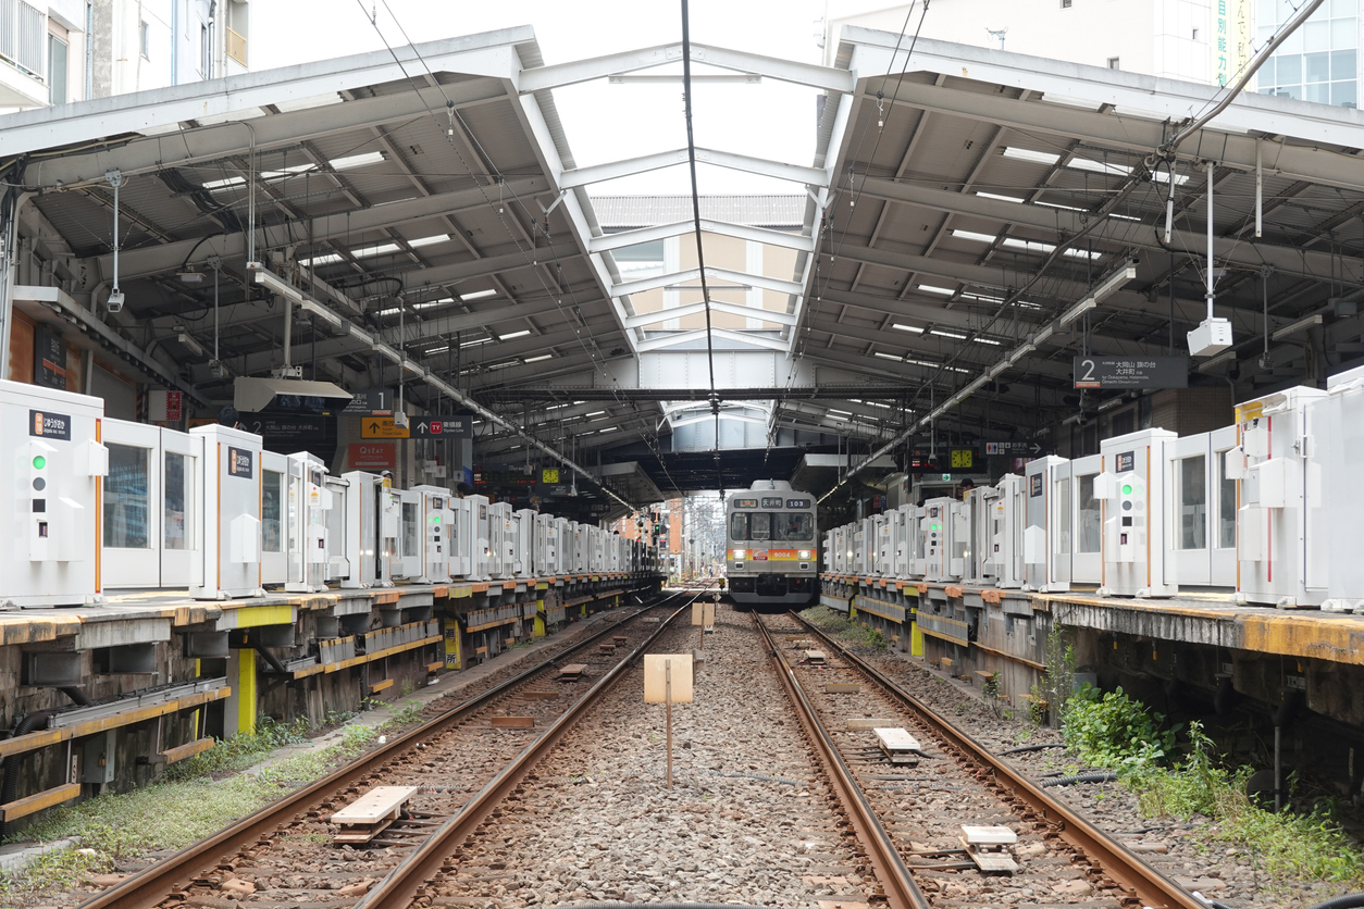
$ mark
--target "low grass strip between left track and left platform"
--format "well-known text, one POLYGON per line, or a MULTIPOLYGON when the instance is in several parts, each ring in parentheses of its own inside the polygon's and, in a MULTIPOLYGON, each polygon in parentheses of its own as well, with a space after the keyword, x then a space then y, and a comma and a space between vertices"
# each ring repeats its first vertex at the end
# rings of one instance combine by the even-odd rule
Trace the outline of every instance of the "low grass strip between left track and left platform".
POLYGON ((16 839, 78 838, 79 844, 46 852, 15 874, 0 874, 0 908, 70 890, 90 875, 119 871, 150 853, 183 849, 203 839, 353 760, 378 736, 420 721, 421 709, 411 700, 378 726, 345 725, 353 715, 327 717, 326 725, 342 726, 337 744, 285 758, 258 773, 240 773, 277 748, 306 743, 314 732, 306 722, 278 724, 263 717, 255 732, 239 733, 172 765, 157 782, 53 811, 16 839))

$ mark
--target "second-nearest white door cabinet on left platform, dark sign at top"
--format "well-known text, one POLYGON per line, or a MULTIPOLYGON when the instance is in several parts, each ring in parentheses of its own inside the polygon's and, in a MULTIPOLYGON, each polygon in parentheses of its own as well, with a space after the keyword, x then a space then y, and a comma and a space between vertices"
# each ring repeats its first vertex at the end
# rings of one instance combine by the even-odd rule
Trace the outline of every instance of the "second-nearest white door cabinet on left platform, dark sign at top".
POLYGON ((262 597, 261 586, 261 436, 231 427, 195 427, 203 440, 203 470, 195 477, 198 538, 195 600, 262 597))

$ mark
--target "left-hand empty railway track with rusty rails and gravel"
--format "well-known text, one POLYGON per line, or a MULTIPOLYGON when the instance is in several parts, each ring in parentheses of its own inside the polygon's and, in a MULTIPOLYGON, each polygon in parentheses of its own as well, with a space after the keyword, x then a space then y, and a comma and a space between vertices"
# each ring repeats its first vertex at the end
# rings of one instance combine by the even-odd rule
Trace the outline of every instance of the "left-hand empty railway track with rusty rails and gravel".
POLYGON ((623 666, 705 590, 671 594, 606 626, 97 894, 80 909, 405 905, 398 894, 420 883, 412 875, 427 869, 442 844, 477 823, 514 789, 535 756, 551 748, 623 666), (657 617, 649 621, 648 613, 657 617), (585 666, 576 679, 561 672, 570 662, 585 666), (372 839, 338 849, 331 815, 375 786, 416 792, 372 839))

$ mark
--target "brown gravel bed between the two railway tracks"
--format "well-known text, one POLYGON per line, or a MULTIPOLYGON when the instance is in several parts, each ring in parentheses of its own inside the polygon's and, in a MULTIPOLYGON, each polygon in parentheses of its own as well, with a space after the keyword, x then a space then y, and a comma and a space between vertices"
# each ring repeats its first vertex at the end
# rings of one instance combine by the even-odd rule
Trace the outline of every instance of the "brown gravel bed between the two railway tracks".
MULTIPOLYGON (((686 653, 683 627, 655 651, 686 653)), ((566 902, 865 904, 876 889, 747 615, 722 605, 694 703, 664 706, 632 668, 503 811, 430 883, 432 906, 566 902)), ((419 897, 417 899, 423 899, 419 897)))

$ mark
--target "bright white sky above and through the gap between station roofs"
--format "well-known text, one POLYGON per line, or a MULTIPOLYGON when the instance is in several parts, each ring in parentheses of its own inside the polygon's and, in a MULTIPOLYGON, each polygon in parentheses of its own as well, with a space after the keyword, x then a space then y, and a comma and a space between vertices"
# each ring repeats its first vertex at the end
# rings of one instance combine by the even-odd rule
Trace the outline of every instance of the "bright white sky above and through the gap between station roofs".
MULTIPOLYGON (((692 0, 692 41, 818 63, 822 15, 822 0, 692 0)), ((681 0, 271 0, 251 4, 252 68, 382 50, 385 40, 408 44, 404 33, 421 42, 521 25, 535 29, 547 64, 682 40, 681 0)), ((701 72, 715 71, 693 67, 693 74, 701 72)), ((681 83, 596 82, 557 89, 554 98, 578 166, 686 147, 681 83)), ((757 86, 697 84, 693 123, 700 147, 810 165, 816 91, 771 79, 757 86)), ((702 194, 803 192, 792 183, 705 165, 697 183, 702 194)), ((690 180, 685 166, 675 166, 596 184, 592 192, 686 194, 690 180)))

